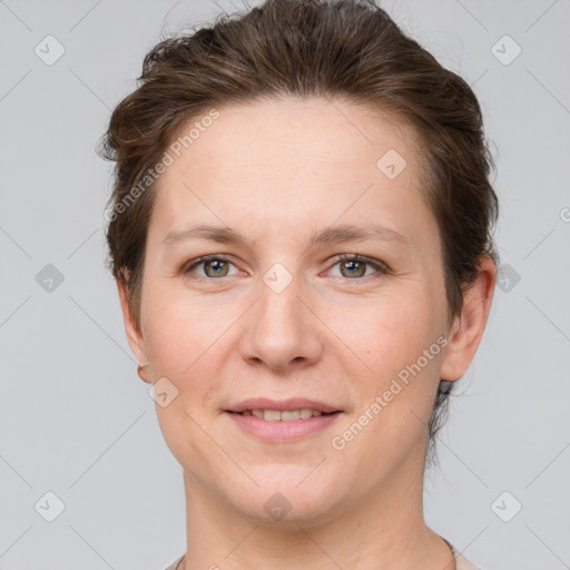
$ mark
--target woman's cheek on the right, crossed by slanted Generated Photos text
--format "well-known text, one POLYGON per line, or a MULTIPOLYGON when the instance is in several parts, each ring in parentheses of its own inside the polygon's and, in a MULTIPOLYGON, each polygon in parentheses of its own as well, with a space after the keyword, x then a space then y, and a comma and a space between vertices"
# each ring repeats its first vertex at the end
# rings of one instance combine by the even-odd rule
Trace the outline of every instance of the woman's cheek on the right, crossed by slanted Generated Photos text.
POLYGON ((347 314, 334 318, 331 328, 351 347, 347 358, 361 371, 351 390, 354 416, 366 435, 354 450, 370 448, 373 462, 379 453, 410 449, 425 433, 439 384, 441 299, 417 289, 353 305, 347 314))

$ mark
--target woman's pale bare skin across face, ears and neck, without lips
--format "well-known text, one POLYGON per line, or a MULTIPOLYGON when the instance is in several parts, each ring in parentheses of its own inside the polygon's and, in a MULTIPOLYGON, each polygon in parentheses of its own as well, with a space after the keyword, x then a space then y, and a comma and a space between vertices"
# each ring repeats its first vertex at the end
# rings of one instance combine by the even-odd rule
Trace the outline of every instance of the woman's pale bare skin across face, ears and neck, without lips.
POLYGON ((473 360, 494 264, 481 258, 450 324, 442 244, 411 127, 342 100, 219 111, 160 178, 140 323, 119 283, 129 344, 148 363, 144 380, 167 377, 178 390, 157 414, 184 468, 181 568, 452 570, 422 512, 425 428, 439 380, 460 379, 473 360), (407 161, 394 179, 376 167, 391 148, 407 161), (165 242, 195 224, 229 227, 245 243, 179 234, 165 242), (374 224, 402 238, 309 244, 324 228, 374 224), (223 271, 219 259, 191 267, 209 254, 227 262, 223 271), (365 262, 355 268, 342 254, 387 273, 365 262), (276 263, 292 276, 279 293, 263 281, 276 263), (421 373, 343 450, 333 449, 332 438, 442 335, 448 345, 421 373), (246 397, 293 395, 342 413, 321 432, 272 444, 224 413, 246 397), (292 507, 282 520, 264 509, 276 492, 292 507))

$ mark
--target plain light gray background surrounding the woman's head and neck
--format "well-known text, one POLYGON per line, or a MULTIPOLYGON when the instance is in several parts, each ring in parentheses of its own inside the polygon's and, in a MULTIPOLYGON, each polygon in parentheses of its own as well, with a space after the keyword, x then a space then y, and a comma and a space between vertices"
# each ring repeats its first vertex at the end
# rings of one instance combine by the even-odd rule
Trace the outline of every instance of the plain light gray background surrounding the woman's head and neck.
MULTIPOLYGON (((0 1, 3 570, 158 570, 185 550, 181 468, 104 266, 110 165, 94 148, 160 32, 219 6, 0 1), (48 35, 66 50, 52 66, 35 52, 48 35)), ((488 570, 569 568, 570 0, 383 7, 481 100, 509 266, 426 475, 428 522, 488 570)))

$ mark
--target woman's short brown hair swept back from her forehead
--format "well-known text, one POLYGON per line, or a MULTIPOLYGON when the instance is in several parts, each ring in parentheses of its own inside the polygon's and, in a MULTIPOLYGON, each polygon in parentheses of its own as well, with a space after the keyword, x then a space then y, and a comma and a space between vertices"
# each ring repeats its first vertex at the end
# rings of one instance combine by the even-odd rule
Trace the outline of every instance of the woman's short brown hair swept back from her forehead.
MULTIPOLYGON (((406 121, 423 150, 450 323, 478 275, 479 258, 498 263, 498 199, 489 180, 494 163, 476 97, 372 0, 267 0, 245 13, 223 14, 212 27, 160 41, 145 57, 138 80, 112 112, 99 148, 117 163, 107 240, 112 274, 127 285, 137 322, 156 185, 128 207, 126 199, 180 127, 214 106, 283 96, 343 98, 406 121)), ((451 386, 440 383, 431 444, 451 386)))

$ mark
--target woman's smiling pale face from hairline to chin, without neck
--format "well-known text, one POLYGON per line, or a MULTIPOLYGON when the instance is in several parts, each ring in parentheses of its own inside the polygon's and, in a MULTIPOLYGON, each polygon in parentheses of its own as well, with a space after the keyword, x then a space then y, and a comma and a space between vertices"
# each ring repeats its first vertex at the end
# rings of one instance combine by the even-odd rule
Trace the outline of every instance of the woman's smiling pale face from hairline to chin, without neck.
POLYGON ((445 377, 416 138, 341 100, 219 112, 159 180, 130 343, 195 492, 324 520, 421 476, 445 377))

